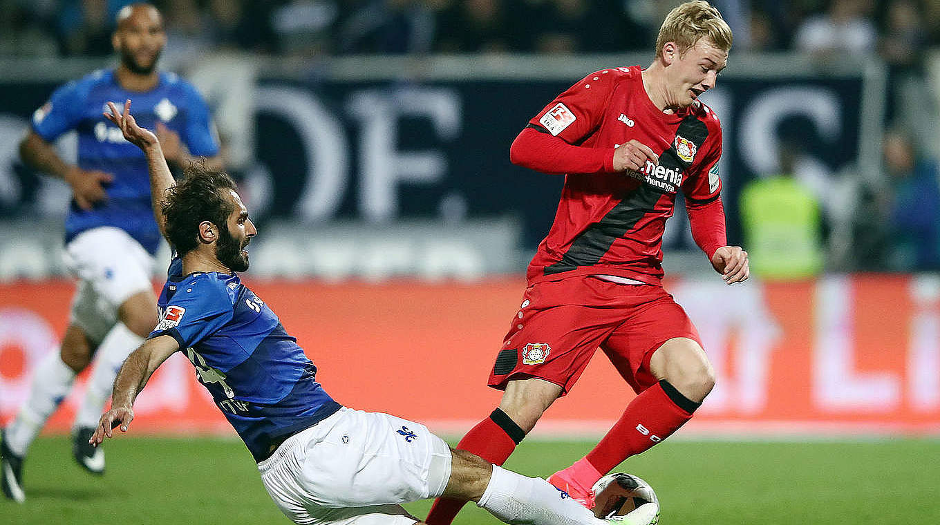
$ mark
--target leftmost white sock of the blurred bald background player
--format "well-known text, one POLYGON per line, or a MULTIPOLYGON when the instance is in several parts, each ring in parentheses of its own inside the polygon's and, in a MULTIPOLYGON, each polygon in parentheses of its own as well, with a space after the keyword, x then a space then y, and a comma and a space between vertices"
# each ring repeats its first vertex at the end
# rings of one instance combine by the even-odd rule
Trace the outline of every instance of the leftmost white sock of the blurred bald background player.
POLYGON ((69 365, 62 363, 58 348, 39 361, 33 369, 33 383, 26 402, 4 431, 7 446, 13 454, 26 454, 29 444, 36 439, 46 420, 69 394, 74 380, 75 372, 69 365))

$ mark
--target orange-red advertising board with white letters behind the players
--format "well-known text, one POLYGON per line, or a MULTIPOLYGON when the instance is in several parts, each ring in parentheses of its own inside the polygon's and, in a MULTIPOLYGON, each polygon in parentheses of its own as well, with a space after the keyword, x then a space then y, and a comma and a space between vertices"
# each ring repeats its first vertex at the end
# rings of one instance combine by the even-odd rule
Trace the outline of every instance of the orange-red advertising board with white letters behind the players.
MULTIPOLYGON (((499 393, 486 378, 522 296, 522 278, 478 284, 262 281, 267 301, 345 405, 461 433, 499 393)), ((718 374, 685 431, 764 436, 940 431, 940 286, 930 277, 831 276, 800 283, 673 280, 718 374)), ((29 370, 65 327, 68 282, 0 285, 0 416, 12 417, 29 370)), ((81 390, 81 389, 77 389, 81 390)), ((541 432, 603 432, 633 398, 603 357, 548 410, 541 432)), ((50 422, 71 425, 75 400, 50 422)), ((141 394, 145 432, 227 427, 176 356, 141 394)), ((228 431, 228 430, 226 430, 228 431)), ((685 432, 683 431, 683 432, 685 432)))

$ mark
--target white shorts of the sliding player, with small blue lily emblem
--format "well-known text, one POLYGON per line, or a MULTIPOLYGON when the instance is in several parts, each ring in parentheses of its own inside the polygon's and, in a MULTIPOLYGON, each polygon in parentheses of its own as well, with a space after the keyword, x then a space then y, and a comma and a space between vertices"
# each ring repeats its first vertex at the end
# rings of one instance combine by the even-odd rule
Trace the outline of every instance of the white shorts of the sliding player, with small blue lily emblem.
POLYGON ((441 495, 450 465, 450 448, 425 425, 343 408, 285 440, 258 471, 294 523, 411 525, 399 503, 441 495))

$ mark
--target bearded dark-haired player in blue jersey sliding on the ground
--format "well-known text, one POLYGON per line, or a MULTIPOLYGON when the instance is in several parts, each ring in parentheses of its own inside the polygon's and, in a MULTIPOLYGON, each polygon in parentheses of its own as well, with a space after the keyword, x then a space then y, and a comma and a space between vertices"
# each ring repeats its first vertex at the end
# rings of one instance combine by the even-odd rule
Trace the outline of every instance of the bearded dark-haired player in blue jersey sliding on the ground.
POLYGON ((297 340, 236 273, 248 269, 246 247, 258 232, 231 178, 190 168, 173 185, 160 142, 129 109, 130 100, 123 115, 112 105, 110 118, 147 155, 157 224, 178 257, 160 295, 161 320, 121 366, 112 409, 89 442, 111 437, 115 426, 127 431, 136 395, 183 350, 258 462, 268 493, 296 523, 410 525, 418 519, 399 503, 442 494, 478 502, 509 523, 604 523, 542 479, 450 449, 424 425, 344 408, 326 394, 297 340))

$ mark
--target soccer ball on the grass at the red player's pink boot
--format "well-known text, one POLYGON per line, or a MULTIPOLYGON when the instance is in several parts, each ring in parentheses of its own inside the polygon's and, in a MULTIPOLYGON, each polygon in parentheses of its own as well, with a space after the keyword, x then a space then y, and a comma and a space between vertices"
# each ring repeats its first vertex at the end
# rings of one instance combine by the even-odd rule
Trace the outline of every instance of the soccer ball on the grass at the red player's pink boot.
POLYGON ((622 521, 625 525, 656 525, 659 500, 649 483, 626 472, 603 476, 591 489, 594 516, 622 521))

